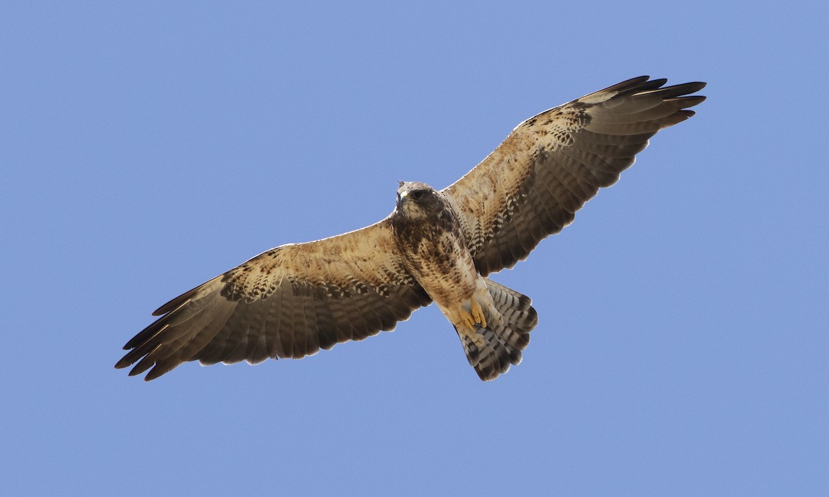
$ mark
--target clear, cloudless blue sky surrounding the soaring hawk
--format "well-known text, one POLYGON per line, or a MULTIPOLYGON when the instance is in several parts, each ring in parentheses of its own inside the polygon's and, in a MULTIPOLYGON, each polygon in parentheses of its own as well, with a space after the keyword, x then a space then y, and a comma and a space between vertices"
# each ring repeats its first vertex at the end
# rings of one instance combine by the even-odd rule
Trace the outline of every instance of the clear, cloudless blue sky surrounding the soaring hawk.
POLYGON ((824 3, 4 2, 7 495, 827 495, 824 3), (443 187, 642 74, 708 100, 495 279, 480 382, 430 306, 301 361, 144 383, 150 312, 443 187))

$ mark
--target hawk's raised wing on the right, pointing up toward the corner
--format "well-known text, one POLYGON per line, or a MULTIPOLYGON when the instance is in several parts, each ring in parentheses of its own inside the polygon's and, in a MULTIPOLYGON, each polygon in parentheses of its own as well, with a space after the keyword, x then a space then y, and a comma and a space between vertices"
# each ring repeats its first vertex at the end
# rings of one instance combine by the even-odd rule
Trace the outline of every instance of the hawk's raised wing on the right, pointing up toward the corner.
POLYGON ((662 87, 641 76, 519 124, 478 166, 444 189, 463 218, 478 271, 511 268, 618 181, 662 128, 694 115, 705 83, 662 87))

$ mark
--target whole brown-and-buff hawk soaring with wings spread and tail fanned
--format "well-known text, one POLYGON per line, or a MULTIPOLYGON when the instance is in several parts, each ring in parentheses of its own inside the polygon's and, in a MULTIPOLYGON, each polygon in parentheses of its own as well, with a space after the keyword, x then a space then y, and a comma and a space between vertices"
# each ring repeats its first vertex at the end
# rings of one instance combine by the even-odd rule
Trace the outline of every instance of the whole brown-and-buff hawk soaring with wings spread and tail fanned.
POLYGON ((443 190, 400 182, 363 229, 260 253, 172 299, 116 368, 156 379, 187 361, 293 358, 391 331, 435 302, 482 380, 521 362, 531 299, 487 276, 513 267, 613 185, 648 139, 690 118, 705 83, 633 78, 518 124, 443 190))

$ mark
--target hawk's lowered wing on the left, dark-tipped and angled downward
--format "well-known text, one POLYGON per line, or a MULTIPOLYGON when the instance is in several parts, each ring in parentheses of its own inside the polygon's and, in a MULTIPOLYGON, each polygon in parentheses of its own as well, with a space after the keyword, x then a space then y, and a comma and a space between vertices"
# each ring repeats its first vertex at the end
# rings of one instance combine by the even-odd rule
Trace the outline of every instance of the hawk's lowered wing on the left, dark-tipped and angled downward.
POLYGON ((156 379, 177 365, 299 358, 394 329, 431 302, 404 268, 388 219, 271 249, 161 306, 115 364, 156 379))

